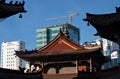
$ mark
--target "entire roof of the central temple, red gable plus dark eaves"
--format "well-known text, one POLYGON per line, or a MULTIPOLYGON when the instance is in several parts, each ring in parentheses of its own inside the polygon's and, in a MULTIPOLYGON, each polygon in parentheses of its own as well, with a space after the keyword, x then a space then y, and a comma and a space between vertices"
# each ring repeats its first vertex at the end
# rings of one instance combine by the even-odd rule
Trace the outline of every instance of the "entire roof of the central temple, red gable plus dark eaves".
POLYGON ((61 30, 58 35, 44 47, 38 50, 16 51, 16 55, 27 61, 55 62, 93 58, 104 62, 101 47, 98 46, 87 49, 70 40, 61 30))

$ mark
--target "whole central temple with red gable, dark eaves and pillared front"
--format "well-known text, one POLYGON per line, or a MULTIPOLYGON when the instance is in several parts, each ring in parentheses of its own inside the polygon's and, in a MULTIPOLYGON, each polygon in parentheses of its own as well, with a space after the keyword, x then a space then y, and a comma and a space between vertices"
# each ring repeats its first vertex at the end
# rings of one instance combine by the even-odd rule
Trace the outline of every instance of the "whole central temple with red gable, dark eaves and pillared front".
POLYGON ((39 66, 45 79, 50 76, 73 79, 79 72, 100 72, 102 64, 107 61, 100 46, 86 47, 77 44, 69 39, 67 30, 62 32, 61 29, 44 47, 16 51, 16 55, 29 62, 30 71, 32 65, 35 69, 39 66))

